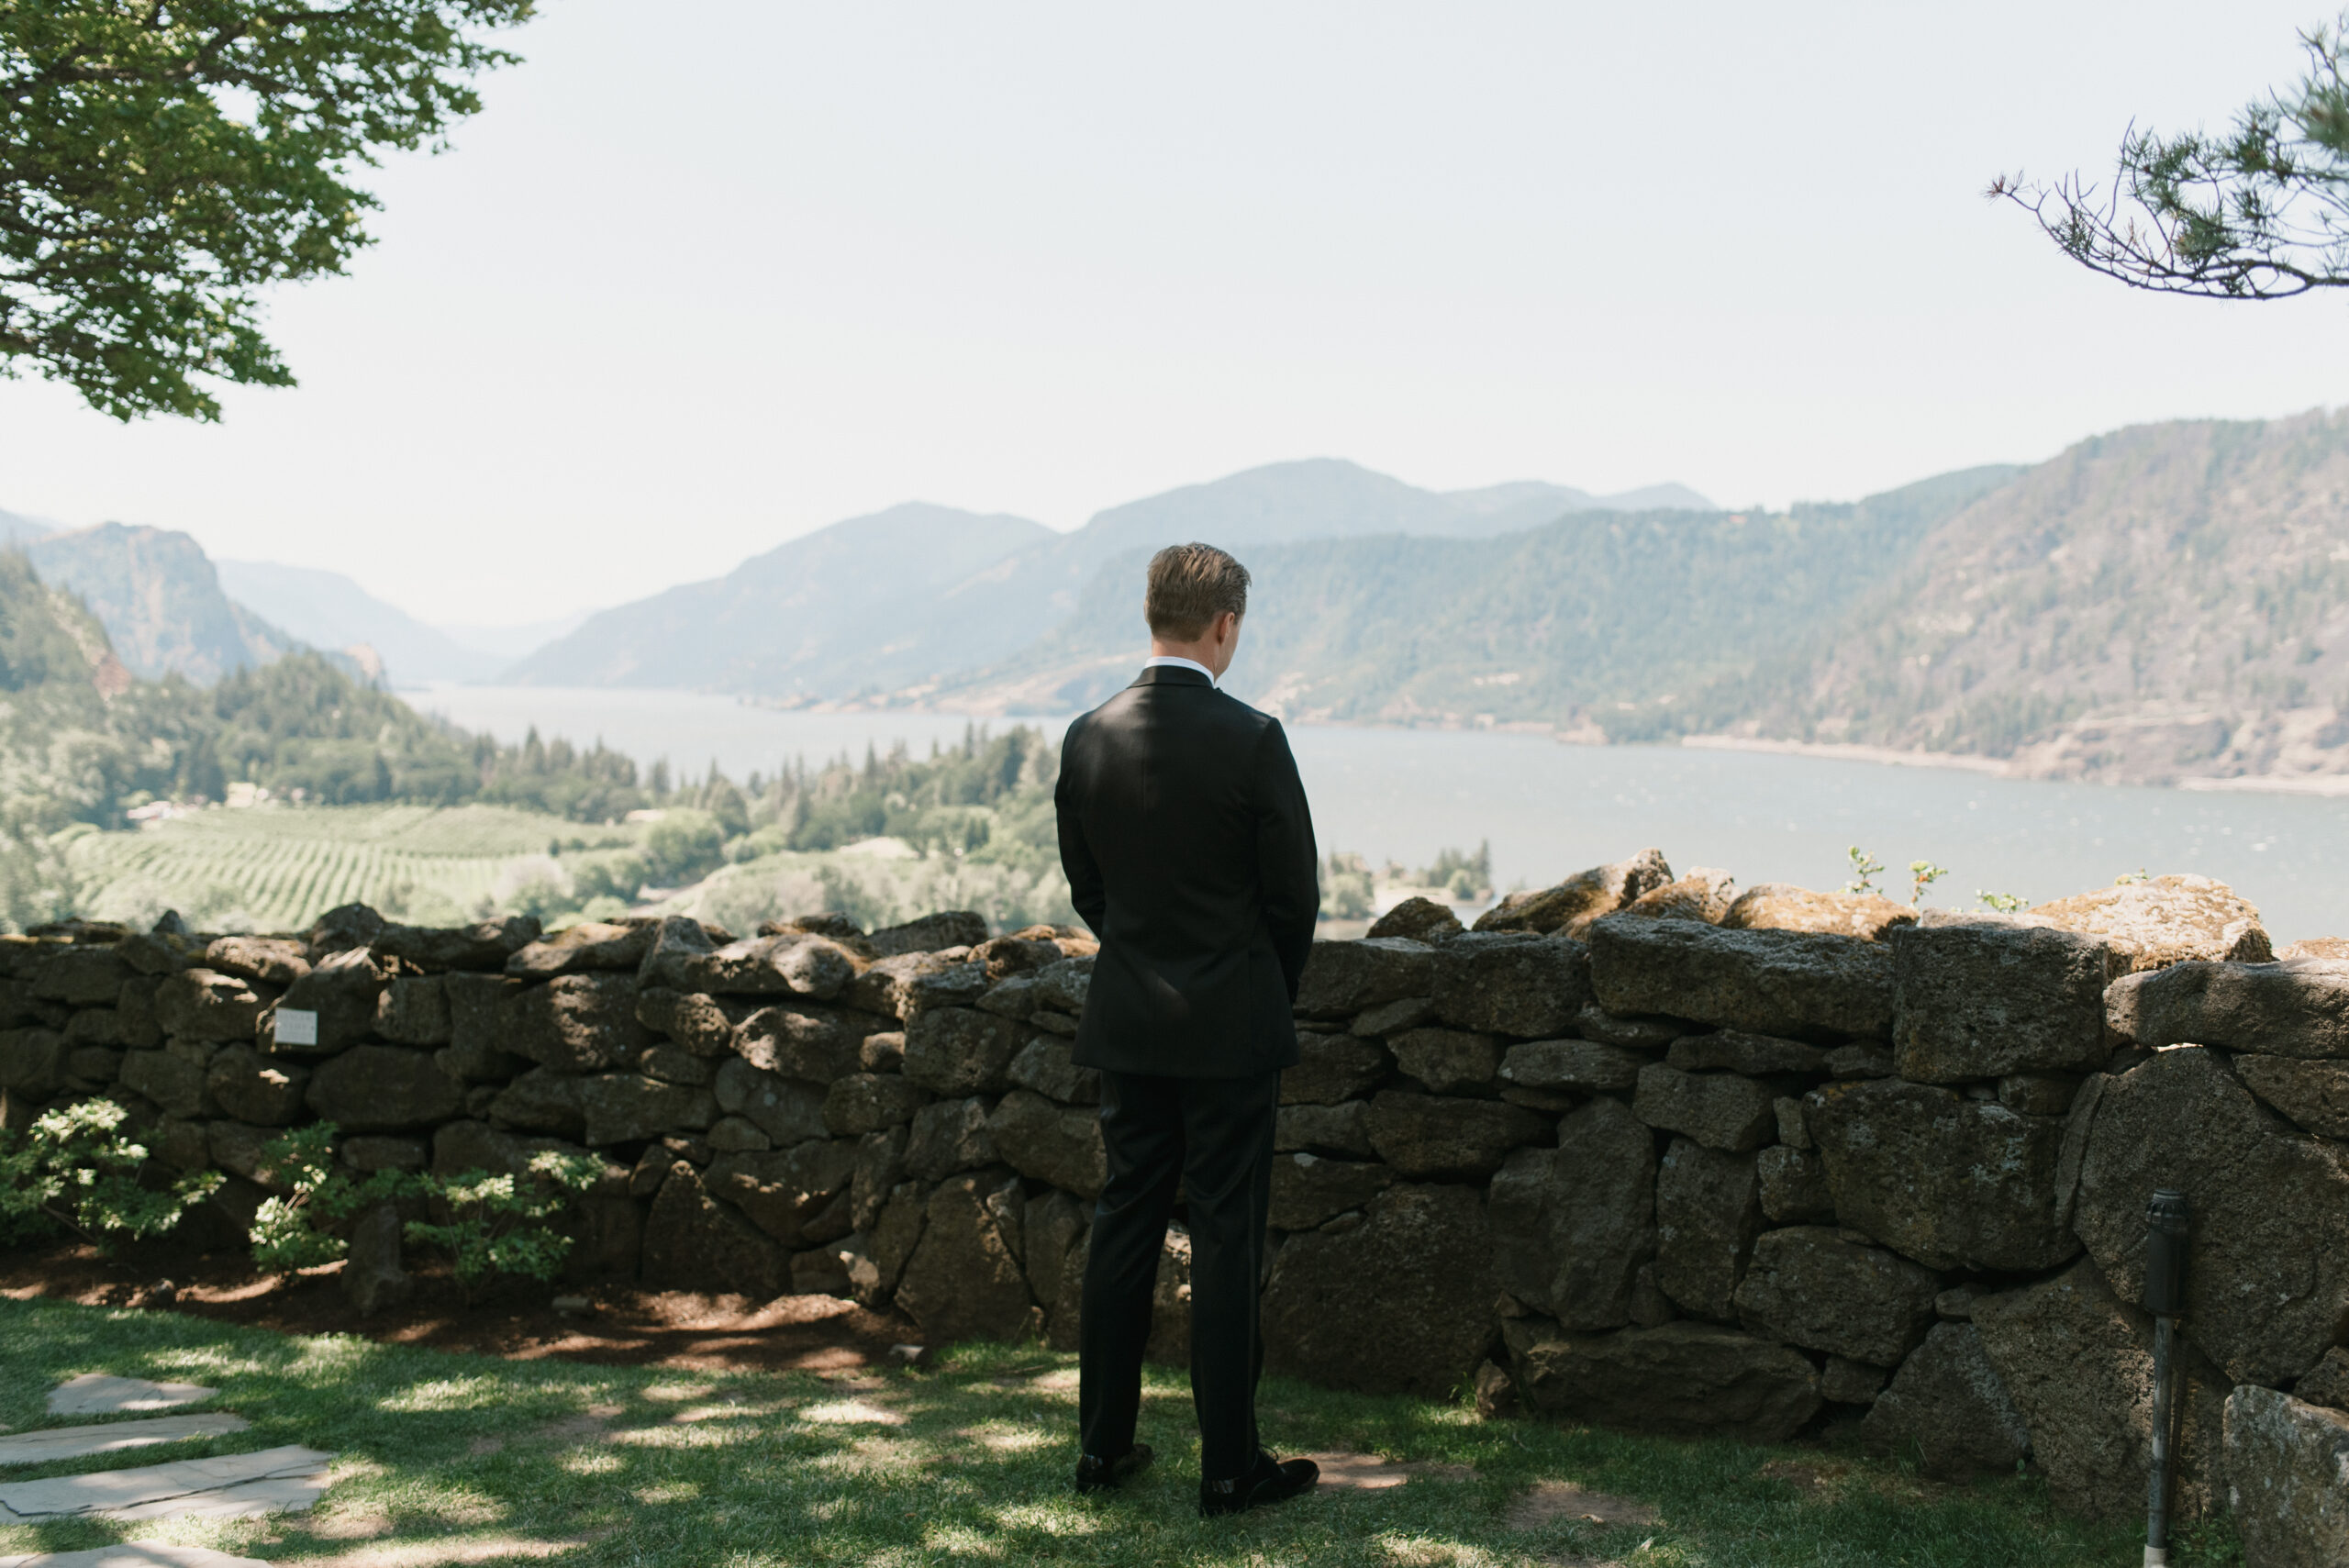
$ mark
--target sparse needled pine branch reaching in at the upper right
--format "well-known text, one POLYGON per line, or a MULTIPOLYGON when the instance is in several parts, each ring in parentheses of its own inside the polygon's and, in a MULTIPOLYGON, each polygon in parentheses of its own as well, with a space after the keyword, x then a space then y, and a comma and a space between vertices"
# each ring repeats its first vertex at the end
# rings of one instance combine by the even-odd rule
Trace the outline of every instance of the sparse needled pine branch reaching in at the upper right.
POLYGON ((2349 12, 2300 42, 2309 73, 2225 134, 2131 127, 2109 188, 1999 176, 1990 195, 2138 289, 2276 300, 2349 286, 2349 12))

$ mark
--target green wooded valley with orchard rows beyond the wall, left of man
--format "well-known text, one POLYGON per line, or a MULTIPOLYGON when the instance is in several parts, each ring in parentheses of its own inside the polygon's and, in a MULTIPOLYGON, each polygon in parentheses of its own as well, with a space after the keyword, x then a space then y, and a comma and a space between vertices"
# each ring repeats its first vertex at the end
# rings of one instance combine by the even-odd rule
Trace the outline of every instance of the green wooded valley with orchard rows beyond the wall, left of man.
POLYGON ((1012 730, 745 784, 639 775, 604 746, 467 735, 315 653, 211 688, 139 681, 78 596, 0 552, 0 925, 179 908, 289 930, 352 899, 418 922, 648 899, 745 927, 808 908, 1062 920, 1055 772, 1012 730))

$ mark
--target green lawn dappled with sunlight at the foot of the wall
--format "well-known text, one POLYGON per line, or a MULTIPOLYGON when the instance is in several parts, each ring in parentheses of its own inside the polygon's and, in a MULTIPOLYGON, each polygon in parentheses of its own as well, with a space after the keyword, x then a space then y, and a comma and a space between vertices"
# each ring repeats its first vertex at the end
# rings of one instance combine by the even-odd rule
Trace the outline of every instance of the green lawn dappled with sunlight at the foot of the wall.
MULTIPOLYGON (((926 1371, 608 1368, 0 1300, 0 1425, 73 1425, 45 1415, 42 1399, 82 1371, 216 1385, 204 1408, 251 1430, 7 1479, 310 1444, 341 1455, 334 1491, 312 1514, 263 1521, 5 1526, 0 1554, 124 1537, 369 1568, 2119 1568, 2140 1554, 2128 1528, 2055 1514, 2032 1479, 1943 1488, 1839 1448, 1480 1422, 1456 1406, 1285 1380, 1264 1390, 1266 1437, 1283 1451, 1377 1453, 1414 1465, 1409 1483, 1203 1521, 1191 1394, 1172 1368, 1151 1368, 1142 1415, 1158 1467, 1095 1502, 1066 1486, 1073 1357, 1036 1347, 968 1345, 926 1371), (1635 1498, 1658 1521, 1515 1528, 1513 1502, 1541 1481, 1635 1498)), ((2185 1561, 2232 1556, 2213 1542, 2185 1561)))

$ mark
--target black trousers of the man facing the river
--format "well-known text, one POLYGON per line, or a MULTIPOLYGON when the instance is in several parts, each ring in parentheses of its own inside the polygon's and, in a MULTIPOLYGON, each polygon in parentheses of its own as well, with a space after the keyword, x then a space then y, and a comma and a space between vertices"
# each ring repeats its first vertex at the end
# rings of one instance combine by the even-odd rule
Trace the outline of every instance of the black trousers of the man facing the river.
POLYGON ((1280 1073, 1102 1073, 1109 1183, 1092 1211, 1078 1324, 1085 1453, 1113 1460, 1135 1446, 1151 1289, 1182 1188, 1191 1223, 1191 1401, 1200 1474, 1224 1481, 1257 1462, 1257 1378, 1264 1371, 1257 1296, 1278 1101, 1280 1073))

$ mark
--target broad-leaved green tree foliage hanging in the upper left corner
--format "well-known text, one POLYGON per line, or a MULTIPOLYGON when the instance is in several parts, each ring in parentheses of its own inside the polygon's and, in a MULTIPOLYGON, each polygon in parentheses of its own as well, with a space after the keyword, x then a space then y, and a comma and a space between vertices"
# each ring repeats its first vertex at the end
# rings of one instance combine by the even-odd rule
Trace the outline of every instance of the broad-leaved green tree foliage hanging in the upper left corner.
POLYGON ((0 373, 120 420, 291 385, 261 289, 369 244, 355 183, 482 108, 531 0, 0 0, 0 373))

